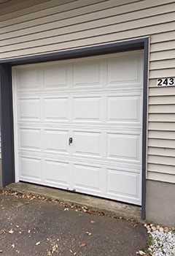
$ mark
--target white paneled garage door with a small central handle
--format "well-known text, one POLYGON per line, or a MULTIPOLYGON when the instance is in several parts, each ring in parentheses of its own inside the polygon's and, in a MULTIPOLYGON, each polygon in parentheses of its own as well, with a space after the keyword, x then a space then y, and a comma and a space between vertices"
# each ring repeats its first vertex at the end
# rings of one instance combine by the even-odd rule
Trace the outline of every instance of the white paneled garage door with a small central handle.
POLYGON ((17 181, 141 204, 143 56, 13 68, 17 181))

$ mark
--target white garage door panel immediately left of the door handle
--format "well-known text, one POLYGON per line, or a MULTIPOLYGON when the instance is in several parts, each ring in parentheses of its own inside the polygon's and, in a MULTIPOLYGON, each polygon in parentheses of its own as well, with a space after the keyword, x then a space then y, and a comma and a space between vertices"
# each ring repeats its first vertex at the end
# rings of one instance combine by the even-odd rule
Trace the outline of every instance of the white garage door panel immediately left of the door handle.
POLYGON ((44 129, 43 132, 44 151, 69 154, 69 130, 44 129))

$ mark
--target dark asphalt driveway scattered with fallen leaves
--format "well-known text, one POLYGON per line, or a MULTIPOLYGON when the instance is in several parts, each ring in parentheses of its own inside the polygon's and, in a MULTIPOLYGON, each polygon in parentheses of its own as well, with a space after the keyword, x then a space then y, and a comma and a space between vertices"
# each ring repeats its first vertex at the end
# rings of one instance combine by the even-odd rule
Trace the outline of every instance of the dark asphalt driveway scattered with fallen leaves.
POLYGON ((0 255, 134 256, 146 244, 147 231, 136 222, 0 193, 0 255))

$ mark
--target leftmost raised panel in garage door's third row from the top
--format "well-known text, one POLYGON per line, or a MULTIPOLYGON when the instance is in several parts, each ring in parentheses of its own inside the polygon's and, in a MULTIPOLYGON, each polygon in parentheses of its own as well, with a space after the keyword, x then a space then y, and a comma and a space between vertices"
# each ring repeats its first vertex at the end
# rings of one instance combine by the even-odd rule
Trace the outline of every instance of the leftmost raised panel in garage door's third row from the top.
POLYGON ((41 151, 41 130, 40 129, 19 129, 20 150, 41 151))

